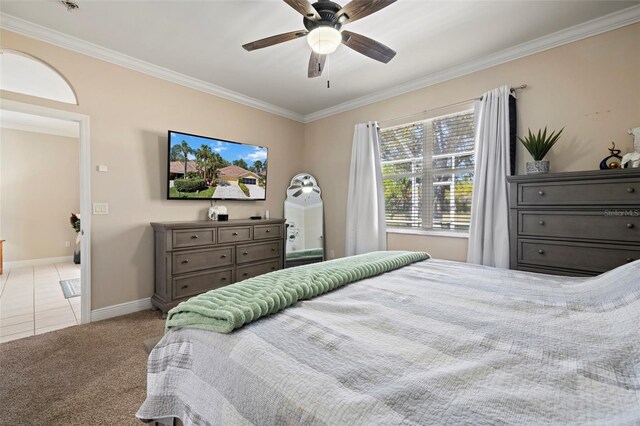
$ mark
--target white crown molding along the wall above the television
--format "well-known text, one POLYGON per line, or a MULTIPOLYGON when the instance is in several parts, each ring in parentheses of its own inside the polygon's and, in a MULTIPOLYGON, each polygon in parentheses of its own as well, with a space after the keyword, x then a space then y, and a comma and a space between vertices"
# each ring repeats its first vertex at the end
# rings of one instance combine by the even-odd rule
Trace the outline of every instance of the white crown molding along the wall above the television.
POLYGON ((291 120, 304 115, 0 12, 0 28, 291 120))

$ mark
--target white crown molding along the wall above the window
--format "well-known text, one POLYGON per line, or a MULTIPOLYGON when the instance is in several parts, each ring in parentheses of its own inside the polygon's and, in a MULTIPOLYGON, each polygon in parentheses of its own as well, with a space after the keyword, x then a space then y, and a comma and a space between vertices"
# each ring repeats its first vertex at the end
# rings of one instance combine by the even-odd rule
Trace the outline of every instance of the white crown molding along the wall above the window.
POLYGON ((520 59, 535 53, 543 52, 545 50, 553 49, 554 47, 562 46, 574 41, 602 34, 607 31, 622 28, 637 22, 640 22, 640 5, 631 6, 609 15, 496 52, 483 58, 478 58, 407 83, 380 90, 370 95, 362 96, 330 108, 307 114, 304 116, 304 122, 310 123, 335 114, 340 114, 365 105, 380 102, 404 93, 423 89, 437 83, 442 83, 447 80, 471 74, 515 59, 520 59))

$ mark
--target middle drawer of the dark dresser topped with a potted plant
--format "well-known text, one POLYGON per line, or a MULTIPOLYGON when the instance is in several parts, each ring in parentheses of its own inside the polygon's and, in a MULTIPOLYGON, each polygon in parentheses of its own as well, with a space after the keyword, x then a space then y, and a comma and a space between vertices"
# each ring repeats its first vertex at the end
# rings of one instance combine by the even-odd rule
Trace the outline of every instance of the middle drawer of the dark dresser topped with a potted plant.
POLYGON ((521 210, 518 212, 518 235, 638 243, 640 242, 640 216, 625 215, 625 211, 619 209, 611 211, 521 210))

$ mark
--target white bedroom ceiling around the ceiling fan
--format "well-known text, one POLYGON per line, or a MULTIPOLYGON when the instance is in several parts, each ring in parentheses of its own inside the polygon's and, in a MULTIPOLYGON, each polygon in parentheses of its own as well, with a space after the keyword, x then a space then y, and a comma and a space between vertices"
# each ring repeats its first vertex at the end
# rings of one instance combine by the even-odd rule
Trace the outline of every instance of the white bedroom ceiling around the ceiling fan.
POLYGON ((2 0, 0 10, 307 117, 640 3, 399 0, 345 27, 396 50, 391 62, 341 46, 323 77, 309 79, 304 38, 253 52, 241 47, 303 28, 283 1, 76 1, 75 12, 57 1, 2 0))

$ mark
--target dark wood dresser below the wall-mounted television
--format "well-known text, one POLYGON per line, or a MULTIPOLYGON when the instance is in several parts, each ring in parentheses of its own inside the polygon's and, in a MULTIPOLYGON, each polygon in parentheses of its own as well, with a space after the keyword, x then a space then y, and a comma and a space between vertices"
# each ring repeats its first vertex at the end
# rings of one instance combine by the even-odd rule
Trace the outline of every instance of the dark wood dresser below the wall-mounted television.
POLYGON ((284 266, 284 219, 152 223, 155 292, 163 317, 205 291, 284 266))

